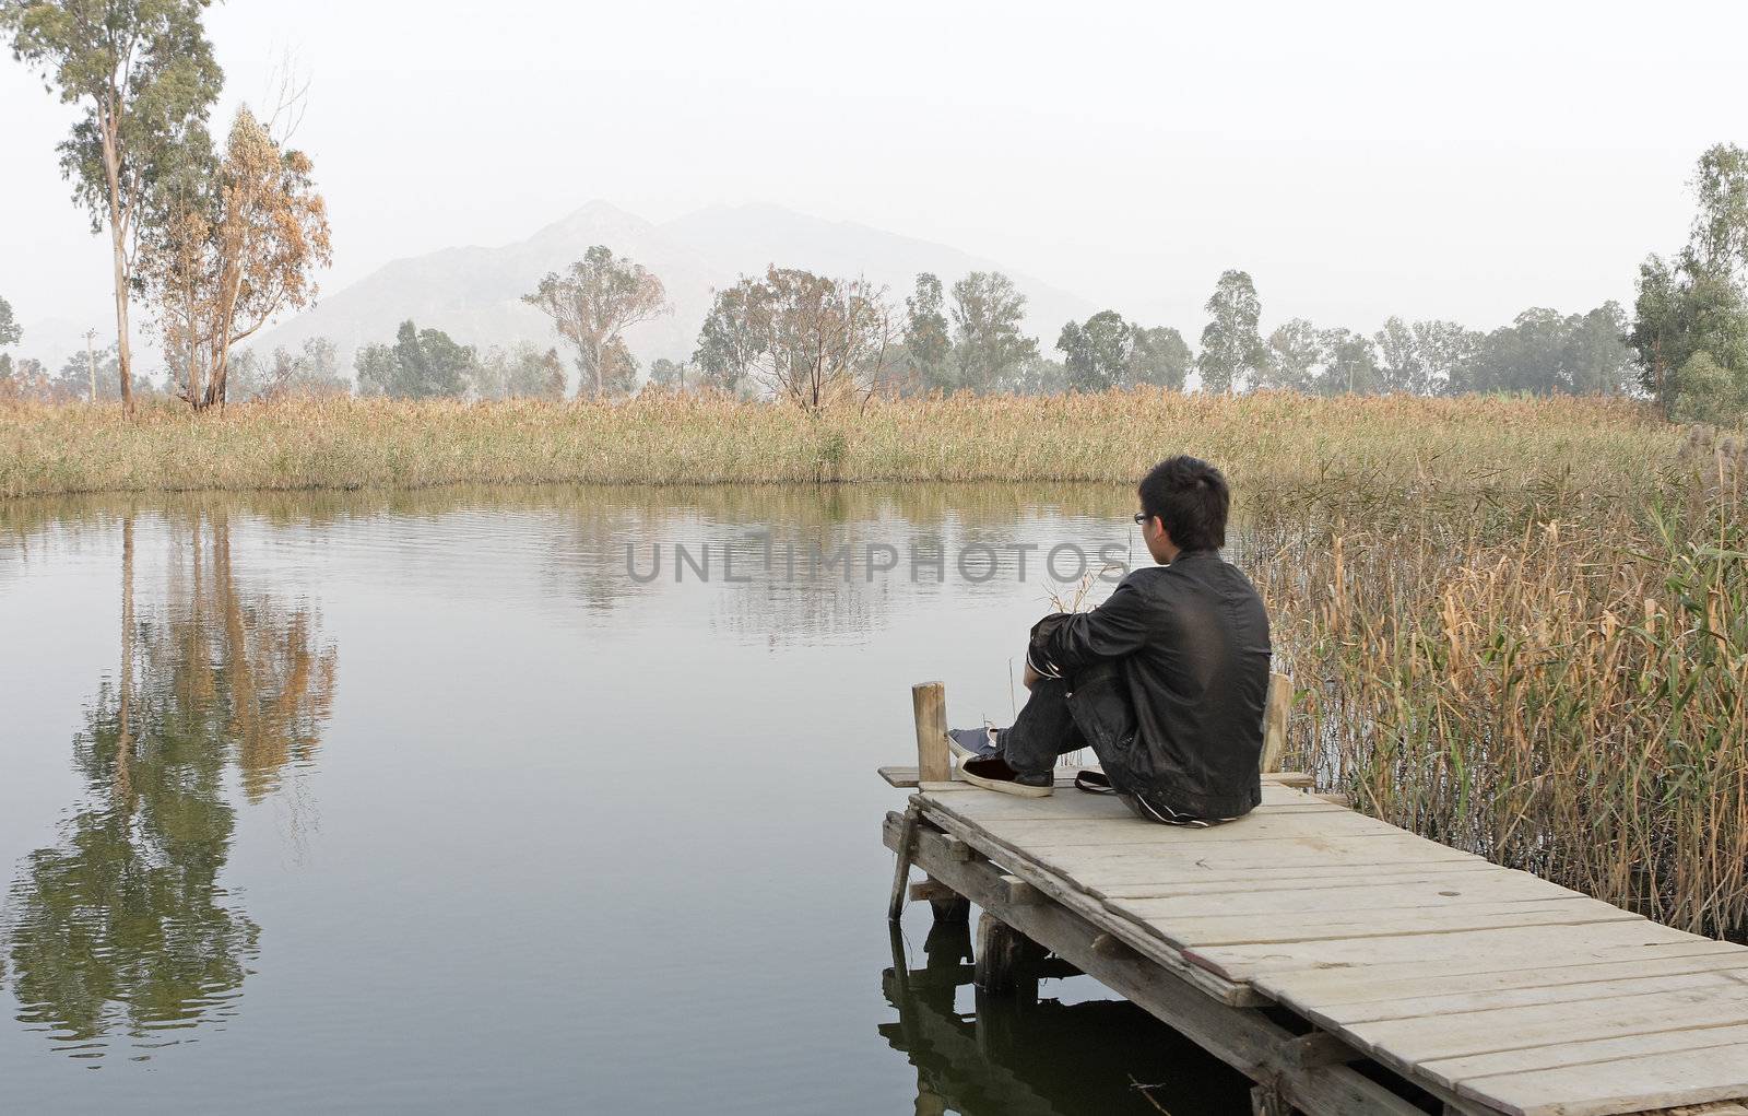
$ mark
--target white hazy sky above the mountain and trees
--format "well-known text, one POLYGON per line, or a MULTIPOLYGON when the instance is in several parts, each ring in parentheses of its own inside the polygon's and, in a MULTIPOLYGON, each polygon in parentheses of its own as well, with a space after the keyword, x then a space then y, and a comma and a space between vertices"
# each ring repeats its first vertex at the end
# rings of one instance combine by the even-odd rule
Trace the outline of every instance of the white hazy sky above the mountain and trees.
MULTIPOLYGON (((1491 327, 1629 299, 1685 238, 1697 154, 1748 142, 1743 3, 234 0, 208 26, 222 119, 285 51, 313 82, 330 292, 593 198, 769 201, 1187 336, 1234 266, 1266 324, 1491 327)), ((0 296, 26 329, 107 322, 68 119, 0 58, 0 296)))

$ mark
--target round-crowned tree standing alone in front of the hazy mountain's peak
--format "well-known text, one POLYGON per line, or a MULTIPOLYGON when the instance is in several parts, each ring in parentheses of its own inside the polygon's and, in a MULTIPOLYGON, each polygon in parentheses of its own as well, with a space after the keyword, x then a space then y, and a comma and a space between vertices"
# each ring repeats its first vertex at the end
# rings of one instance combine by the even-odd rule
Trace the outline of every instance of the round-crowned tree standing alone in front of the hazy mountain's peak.
POLYGON ((559 336, 577 346, 582 373, 577 394, 596 399, 607 395, 610 381, 624 385, 624 357, 629 352, 621 334, 638 322, 673 313, 668 292, 654 273, 603 245, 584 252, 565 275, 549 273, 523 301, 552 318, 559 336))

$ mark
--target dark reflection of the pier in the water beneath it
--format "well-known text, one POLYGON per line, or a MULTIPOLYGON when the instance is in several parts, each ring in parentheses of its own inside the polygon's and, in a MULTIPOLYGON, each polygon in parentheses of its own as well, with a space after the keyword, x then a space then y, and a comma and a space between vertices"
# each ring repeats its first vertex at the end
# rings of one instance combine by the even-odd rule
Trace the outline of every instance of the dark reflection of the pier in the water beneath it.
POLYGON ((1241 1074, 1134 1004, 1040 999, 1040 981, 1073 973, 1056 959, 1035 962, 1016 995, 975 992, 967 1013, 960 990, 972 983, 970 929, 939 922, 923 952, 926 964, 909 969, 895 936, 881 990, 898 1020, 879 1025, 916 1069, 918 1116, 1248 1111, 1241 1074))

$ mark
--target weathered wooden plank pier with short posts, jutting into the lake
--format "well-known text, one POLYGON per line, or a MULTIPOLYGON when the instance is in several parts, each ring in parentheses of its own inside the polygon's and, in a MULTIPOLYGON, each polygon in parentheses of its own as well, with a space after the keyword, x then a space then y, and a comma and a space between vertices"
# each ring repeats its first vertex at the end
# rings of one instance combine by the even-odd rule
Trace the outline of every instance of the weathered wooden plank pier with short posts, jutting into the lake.
POLYGON ((1143 822, 1068 770, 1051 798, 995 794, 951 780, 940 686, 914 708, 918 766, 881 770, 914 787, 884 826, 891 915, 907 897, 947 920, 979 906, 986 990, 1052 955, 1248 1076, 1271 1116, 1748 1116, 1748 946, 1414 836, 1302 777, 1266 775, 1262 806, 1211 829, 1143 822))

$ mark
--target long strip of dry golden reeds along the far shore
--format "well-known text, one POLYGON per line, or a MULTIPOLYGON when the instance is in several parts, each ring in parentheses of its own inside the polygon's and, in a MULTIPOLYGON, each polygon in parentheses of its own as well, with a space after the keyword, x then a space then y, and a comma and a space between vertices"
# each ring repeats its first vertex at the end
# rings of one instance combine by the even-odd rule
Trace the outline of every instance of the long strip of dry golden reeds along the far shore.
POLYGON ((1641 485, 1676 434, 1622 401, 1077 397, 792 408, 643 395, 587 402, 0 408, 0 497, 489 483, 1119 481, 1166 453, 1241 486, 1641 485))

